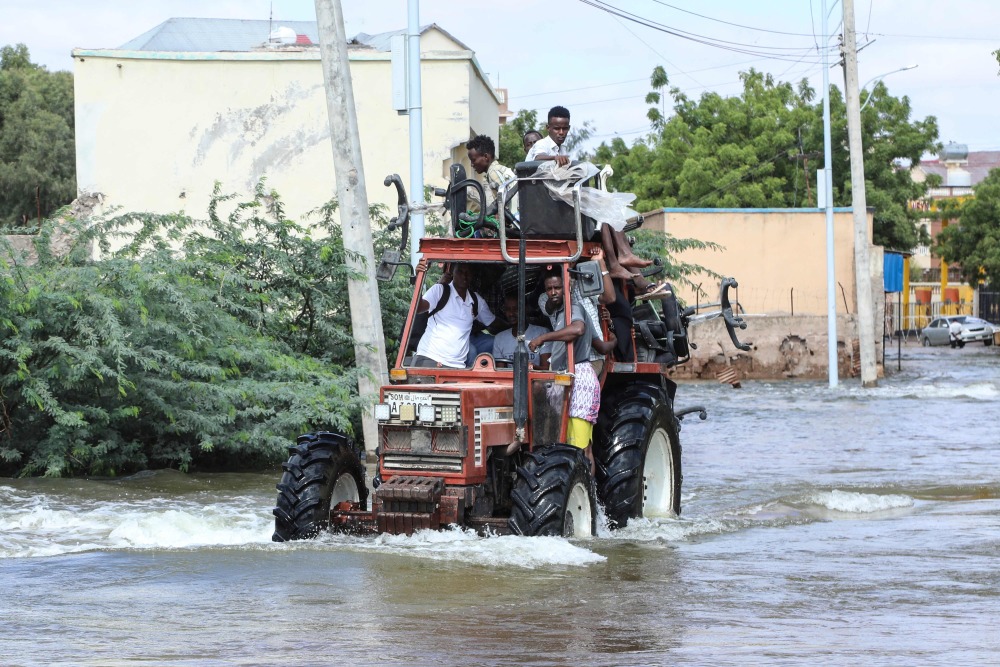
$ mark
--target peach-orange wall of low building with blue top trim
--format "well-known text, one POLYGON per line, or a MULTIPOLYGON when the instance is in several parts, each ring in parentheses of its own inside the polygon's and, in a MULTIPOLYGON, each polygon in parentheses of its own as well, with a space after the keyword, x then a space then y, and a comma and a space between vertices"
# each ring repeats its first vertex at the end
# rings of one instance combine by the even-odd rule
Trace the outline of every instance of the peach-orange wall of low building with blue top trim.
MULTIPOLYGON (((826 314, 826 214, 822 209, 663 209, 644 215, 646 229, 723 246, 719 251, 687 250, 676 259, 735 277, 746 312, 826 314)), ((869 242, 871 234, 869 214, 869 242)), ((834 239, 837 312, 843 314, 849 309, 856 313, 851 209, 835 209, 834 239)), ((676 286, 688 304, 718 300, 718 280, 702 275, 694 282, 703 282, 707 295, 699 297, 690 288, 676 286)), ((881 292, 881 271, 874 276, 874 282, 881 292)))

